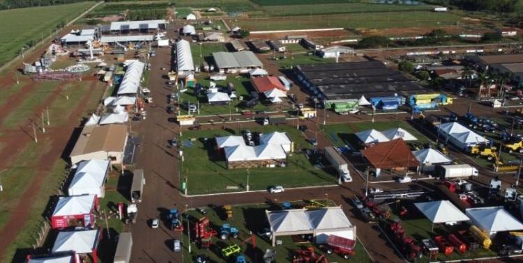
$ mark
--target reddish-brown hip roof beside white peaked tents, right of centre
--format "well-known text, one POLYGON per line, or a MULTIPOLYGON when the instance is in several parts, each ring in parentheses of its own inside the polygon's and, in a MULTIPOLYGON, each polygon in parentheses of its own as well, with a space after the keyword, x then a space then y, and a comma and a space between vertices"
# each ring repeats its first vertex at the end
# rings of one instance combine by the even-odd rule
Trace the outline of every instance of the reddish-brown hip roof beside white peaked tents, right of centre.
POLYGON ((374 168, 391 169, 397 167, 414 167, 420 163, 402 138, 386 143, 376 143, 361 151, 361 154, 374 168))

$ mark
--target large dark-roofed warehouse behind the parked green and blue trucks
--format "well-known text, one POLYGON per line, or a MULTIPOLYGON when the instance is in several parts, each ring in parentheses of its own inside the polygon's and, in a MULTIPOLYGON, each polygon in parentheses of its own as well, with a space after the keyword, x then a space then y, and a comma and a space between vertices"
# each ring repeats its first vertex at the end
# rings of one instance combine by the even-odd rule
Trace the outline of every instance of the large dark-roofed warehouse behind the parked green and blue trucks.
POLYGON ((295 71, 319 99, 344 102, 364 95, 372 106, 384 110, 397 109, 410 94, 429 91, 379 61, 298 65, 295 71))

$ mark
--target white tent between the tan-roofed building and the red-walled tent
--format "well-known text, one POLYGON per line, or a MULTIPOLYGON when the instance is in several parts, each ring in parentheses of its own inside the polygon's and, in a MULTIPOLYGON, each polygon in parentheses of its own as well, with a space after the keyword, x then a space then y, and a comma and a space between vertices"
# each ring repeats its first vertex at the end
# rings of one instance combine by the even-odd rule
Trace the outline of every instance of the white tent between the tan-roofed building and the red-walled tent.
POLYGON ((99 198, 105 196, 104 185, 109 171, 110 161, 91 159, 82 161, 76 169, 75 176, 71 182, 69 196, 97 195, 99 198))

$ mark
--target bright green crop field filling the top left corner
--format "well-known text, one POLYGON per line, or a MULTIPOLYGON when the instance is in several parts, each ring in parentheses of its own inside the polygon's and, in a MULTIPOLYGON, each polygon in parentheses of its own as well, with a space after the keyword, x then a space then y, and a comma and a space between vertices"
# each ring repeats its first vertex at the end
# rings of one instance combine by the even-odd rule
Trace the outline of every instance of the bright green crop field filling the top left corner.
POLYGON ((28 47, 52 34, 61 22, 66 24, 94 3, 0 11, 0 65, 20 54, 22 47, 28 47))

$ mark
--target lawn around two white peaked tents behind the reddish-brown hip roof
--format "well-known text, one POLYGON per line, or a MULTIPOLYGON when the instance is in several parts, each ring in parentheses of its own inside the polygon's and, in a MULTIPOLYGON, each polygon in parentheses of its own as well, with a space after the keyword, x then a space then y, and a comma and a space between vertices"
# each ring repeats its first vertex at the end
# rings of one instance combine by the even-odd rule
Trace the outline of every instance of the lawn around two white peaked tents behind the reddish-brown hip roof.
POLYGON ((429 141, 429 139, 420 134, 416 129, 408 125, 402 120, 397 121, 386 121, 386 122, 350 122, 340 123, 332 125, 321 125, 321 129, 324 129, 325 136, 333 145, 340 147, 344 145, 351 145, 356 150, 359 149, 359 139, 355 133, 359 131, 366 131, 367 129, 376 129, 377 131, 385 131, 387 129, 393 129, 400 127, 409 131, 414 137, 418 138, 418 141, 407 141, 407 144, 414 148, 416 145, 423 145, 429 141))

